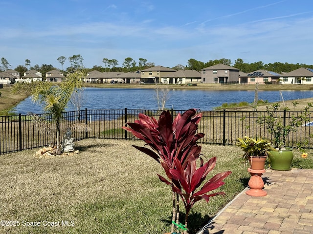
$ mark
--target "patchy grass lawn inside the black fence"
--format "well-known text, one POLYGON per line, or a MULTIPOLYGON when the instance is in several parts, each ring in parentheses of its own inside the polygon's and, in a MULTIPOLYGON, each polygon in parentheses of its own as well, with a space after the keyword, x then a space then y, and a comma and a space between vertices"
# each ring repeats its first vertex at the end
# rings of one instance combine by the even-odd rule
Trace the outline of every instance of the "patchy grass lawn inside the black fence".
MULTIPOLYGON (((74 156, 39 158, 34 156, 36 150, 0 156, 0 218, 20 221, 19 226, 0 227, 0 233, 170 231, 171 188, 156 176, 164 175, 160 165, 131 147, 143 146, 143 142, 86 139, 75 144, 80 153, 74 156)), ((199 231, 240 193, 249 179, 238 147, 202 145, 202 153, 206 158, 217 156, 217 166, 208 178, 227 170, 233 173, 221 188, 226 196, 194 206, 189 218, 190 234, 199 231)), ((312 169, 312 151, 308 153, 309 157, 303 159, 294 151, 294 165, 312 169)), ((182 221, 183 206, 180 212, 182 221)))

